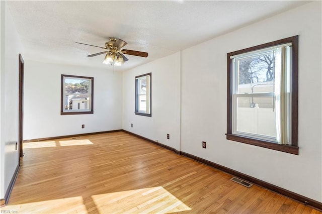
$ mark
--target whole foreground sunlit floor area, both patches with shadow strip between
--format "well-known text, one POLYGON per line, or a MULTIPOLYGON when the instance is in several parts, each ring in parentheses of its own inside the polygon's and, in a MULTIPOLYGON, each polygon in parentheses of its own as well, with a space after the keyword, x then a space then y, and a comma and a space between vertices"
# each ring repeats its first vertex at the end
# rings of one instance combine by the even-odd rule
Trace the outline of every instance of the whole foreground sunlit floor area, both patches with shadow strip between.
POLYGON ((1 213, 172 213, 191 210, 162 186, 7 205, 1 213), (86 201, 85 201, 86 200, 86 201))

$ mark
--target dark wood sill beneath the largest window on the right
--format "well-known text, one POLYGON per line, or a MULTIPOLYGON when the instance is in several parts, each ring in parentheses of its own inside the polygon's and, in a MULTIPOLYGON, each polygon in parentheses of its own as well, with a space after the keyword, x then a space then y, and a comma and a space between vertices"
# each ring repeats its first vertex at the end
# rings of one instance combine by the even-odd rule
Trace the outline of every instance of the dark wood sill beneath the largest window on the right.
POLYGON ((281 144, 277 144, 275 142, 263 141, 263 140, 258 140, 258 139, 254 139, 254 138, 246 138, 244 136, 233 135, 233 134, 226 134, 226 139, 231 140, 231 141, 246 143, 246 144, 250 144, 250 145, 254 145, 254 146, 260 146, 260 147, 264 147, 267 149, 273 149, 273 150, 277 150, 280 152, 286 152, 286 153, 298 155, 298 147, 297 146, 281 145, 281 144))

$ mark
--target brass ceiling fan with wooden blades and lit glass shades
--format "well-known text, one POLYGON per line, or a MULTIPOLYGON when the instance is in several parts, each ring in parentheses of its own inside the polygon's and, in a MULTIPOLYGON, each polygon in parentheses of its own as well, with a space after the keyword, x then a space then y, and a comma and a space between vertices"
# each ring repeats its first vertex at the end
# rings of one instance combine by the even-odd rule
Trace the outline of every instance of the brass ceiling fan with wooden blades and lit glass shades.
MULTIPOLYGON (((82 45, 89 45, 89 44, 80 43, 80 42, 76 42, 76 43, 82 44, 82 45)), ((96 54, 91 54, 88 56, 93 57, 93 56, 98 56, 101 54, 106 54, 103 64, 112 65, 114 63, 114 65, 116 65, 116 66, 121 66, 122 64, 124 64, 124 62, 129 60, 123 54, 128 54, 128 55, 133 55, 133 56, 141 56, 141 57, 148 56, 147 52, 133 51, 133 50, 127 50, 127 49, 121 50, 121 48, 123 48, 126 44, 127 43, 121 39, 117 39, 115 37, 110 37, 109 41, 105 43, 105 48, 100 47, 100 46, 96 46, 96 45, 89 45, 89 46, 93 46, 93 47, 103 48, 103 49, 105 49, 105 51, 100 52, 100 53, 96 53, 96 54)))

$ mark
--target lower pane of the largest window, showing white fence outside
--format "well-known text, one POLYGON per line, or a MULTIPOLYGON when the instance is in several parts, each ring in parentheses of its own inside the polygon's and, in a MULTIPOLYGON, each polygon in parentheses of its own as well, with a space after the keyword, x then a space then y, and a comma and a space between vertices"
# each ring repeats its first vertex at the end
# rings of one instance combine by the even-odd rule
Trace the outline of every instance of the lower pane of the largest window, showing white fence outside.
POLYGON ((273 97, 237 97, 236 102, 236 132, 276 138, 273 97))

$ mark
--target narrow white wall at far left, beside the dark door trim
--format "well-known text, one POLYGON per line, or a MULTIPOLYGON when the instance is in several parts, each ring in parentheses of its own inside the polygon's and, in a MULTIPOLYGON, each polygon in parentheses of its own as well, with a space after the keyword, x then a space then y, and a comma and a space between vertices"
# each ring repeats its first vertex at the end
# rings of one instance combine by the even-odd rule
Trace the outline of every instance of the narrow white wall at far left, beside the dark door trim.
POLYGON ((17 29, 6 2, 0 2, 0 198, 4 198, 19 164, 19 53, 23 52, 17 29))

